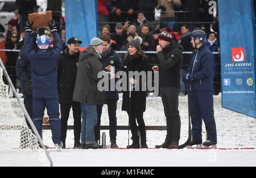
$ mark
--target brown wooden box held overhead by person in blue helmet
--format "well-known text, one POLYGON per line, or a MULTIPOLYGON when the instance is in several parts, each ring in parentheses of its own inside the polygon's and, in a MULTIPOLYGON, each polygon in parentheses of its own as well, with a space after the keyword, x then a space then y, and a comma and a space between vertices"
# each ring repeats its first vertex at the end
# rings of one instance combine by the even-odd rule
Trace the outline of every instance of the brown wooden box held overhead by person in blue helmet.
POLYGON ((32 28, 48 27, 49 23, 52 22, 52 11, 28 14, 28 21, 33 22, 32 28))

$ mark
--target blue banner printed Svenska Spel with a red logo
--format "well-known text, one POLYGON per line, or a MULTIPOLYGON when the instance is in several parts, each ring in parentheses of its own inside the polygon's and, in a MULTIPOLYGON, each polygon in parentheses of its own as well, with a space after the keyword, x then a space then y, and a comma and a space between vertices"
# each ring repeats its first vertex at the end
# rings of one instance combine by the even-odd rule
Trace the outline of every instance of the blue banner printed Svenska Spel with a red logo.
POLYGON ((222 107, 256 118, 253 0, 220 0, 222 107))

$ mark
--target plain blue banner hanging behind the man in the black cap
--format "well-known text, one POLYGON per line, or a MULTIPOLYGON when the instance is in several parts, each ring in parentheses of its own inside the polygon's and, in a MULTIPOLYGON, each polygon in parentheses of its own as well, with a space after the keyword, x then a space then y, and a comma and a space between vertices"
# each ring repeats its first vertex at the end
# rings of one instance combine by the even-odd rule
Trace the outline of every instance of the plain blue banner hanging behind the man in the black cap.
POLYGON ((88 47, 90 40, 98 36, 97 0, 65 0, 66 44, 76 37, 80 47, 88 47))

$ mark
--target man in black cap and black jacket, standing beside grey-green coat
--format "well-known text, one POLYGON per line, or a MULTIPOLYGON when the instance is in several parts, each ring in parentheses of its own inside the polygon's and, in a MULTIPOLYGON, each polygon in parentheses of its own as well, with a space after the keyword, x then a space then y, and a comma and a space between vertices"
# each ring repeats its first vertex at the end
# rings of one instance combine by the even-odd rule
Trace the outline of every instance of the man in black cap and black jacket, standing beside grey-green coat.
POLYGON ((77 65, 79 63, 79 45, 82 42, 72 37, 68 40, 68 45, 57 61, 58 66, 58 93, 61 112, 61 142, 65 148, 67 136, 67 125, 69 111, 72 106, 74 118, 74 148, 80 148, 81 134, 81 107, 80 103, 73 101, 73 91, 76 82, 77 65))

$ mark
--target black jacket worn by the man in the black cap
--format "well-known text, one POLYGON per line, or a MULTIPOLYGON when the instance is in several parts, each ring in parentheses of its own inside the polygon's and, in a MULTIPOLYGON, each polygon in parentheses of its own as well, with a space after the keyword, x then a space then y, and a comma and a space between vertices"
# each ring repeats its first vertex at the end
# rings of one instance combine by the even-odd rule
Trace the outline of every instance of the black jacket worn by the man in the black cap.
POLYGON ((80 51, 70 55, 68 46, 57 61, 59 103, 73 102, 80 51))

